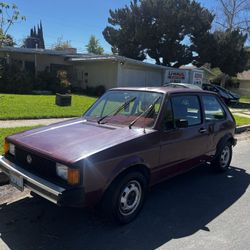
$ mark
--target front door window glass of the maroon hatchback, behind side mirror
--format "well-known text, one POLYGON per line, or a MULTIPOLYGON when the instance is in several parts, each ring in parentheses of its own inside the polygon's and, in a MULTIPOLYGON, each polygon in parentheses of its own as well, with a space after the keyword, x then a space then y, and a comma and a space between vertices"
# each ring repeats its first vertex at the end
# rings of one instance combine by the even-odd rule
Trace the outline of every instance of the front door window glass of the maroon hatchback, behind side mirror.
POLYGON ((188 126, 201 124, 199 97, 195 95, 175 96, 171 98, 174 121, 187 120, 188 126))

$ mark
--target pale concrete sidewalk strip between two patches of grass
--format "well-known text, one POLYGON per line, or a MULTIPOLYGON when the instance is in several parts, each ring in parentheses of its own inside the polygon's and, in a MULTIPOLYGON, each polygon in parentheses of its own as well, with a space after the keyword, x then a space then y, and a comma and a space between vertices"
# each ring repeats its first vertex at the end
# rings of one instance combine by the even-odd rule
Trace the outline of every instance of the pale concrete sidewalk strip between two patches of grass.
POLYGON ((49 125, 56 122, 67 121, 74 118, 52 118, 52 119, 25 119, 25 120, 0 120, 0 128, 15 128, 36 125, 49 125))

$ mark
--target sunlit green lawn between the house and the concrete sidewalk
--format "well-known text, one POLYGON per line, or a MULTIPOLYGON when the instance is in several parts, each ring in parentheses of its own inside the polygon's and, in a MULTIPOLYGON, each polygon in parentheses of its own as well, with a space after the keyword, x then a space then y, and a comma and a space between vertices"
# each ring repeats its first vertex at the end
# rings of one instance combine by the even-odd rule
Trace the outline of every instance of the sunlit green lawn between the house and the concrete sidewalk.
POLYGON ((72 95, 72 105, 55 105, 54 95, 0 94, 0 119, 49 118, 81 116, 96 100, 94 97, 72 95))

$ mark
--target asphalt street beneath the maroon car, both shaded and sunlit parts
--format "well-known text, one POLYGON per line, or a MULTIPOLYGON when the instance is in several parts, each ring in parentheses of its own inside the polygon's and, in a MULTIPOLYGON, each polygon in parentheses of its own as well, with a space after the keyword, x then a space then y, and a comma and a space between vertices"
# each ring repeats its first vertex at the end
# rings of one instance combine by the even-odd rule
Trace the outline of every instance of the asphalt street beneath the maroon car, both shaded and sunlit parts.
POLYGON ((138 219, 122 227, 2 186, 0 249, 249 249, 250 133, 231 165, 226 174, 201 167, 156 186, 138 219))

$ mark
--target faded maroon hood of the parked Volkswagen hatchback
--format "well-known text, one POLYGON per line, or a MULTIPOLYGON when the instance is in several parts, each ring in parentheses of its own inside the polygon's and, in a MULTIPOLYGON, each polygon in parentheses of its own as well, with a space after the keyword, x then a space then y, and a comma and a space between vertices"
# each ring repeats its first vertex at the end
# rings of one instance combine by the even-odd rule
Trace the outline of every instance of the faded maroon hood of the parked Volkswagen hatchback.
POLYGON ((79 118, 11 135, 8 141, 54 160, 74 163, 143 134, 141 128, 99 125, 79 118))

